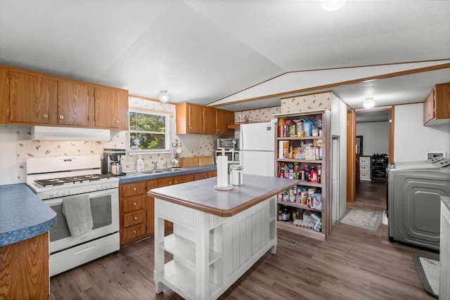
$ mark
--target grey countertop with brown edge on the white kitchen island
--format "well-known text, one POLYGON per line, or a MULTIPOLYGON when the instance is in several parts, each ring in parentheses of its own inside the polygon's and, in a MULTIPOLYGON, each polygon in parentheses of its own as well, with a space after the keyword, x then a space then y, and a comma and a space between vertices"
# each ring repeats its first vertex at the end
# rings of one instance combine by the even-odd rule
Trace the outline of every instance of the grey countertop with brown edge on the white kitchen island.
POLYGON ((234 216, 259 202, 297 185, 296 179, 243 175, 243 185, 215 190, 217 177, 154 188, 148 195, 216 216, 234 216))

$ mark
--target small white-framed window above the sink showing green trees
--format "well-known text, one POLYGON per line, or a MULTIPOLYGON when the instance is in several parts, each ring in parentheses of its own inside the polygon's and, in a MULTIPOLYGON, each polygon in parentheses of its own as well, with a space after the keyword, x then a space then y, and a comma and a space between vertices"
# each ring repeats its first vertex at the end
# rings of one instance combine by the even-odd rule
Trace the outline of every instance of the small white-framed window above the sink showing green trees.
POLYGON ((164 112, 129 111, 131 152, 169 151, 170 115, 164 112))

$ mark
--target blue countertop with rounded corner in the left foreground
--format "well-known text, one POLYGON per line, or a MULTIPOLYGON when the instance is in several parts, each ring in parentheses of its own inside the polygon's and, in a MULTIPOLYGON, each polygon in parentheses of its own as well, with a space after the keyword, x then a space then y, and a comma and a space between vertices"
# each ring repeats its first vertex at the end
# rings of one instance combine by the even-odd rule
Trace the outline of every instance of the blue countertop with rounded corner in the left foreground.
POLYGON ((0 247, 41 235, 55 224, 55 211, 25 183, 0 185, 0 247))

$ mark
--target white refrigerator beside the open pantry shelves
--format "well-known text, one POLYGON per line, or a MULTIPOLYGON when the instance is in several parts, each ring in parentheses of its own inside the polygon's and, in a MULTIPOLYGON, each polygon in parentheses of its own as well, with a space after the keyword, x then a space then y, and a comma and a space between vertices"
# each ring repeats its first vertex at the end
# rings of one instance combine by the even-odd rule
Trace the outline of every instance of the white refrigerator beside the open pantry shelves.
POLYGON ((243 174, 275 176, 276 119, 240 125, 239 164, 243 174))

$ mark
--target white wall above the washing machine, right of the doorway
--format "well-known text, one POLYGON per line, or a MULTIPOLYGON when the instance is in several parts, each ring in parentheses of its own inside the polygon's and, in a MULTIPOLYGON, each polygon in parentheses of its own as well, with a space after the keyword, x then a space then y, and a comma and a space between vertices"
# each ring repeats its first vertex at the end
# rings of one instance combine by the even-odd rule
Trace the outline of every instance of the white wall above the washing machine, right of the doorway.
POLYGON ((394 109, 394 162, 427 159, 427 151, 450 151, 450 125, 423 126, 423 103, 394 109))

